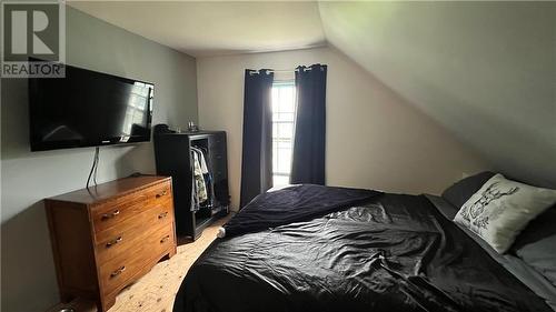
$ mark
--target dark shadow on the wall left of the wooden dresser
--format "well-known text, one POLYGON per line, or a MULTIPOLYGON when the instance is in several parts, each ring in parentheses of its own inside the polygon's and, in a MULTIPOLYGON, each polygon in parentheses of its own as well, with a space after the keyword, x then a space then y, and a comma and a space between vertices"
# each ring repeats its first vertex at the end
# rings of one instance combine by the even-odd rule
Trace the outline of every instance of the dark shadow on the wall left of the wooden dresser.
POLYGON ((36 202, 2 223, 1 231, 1 310, 14 311, 9 308, 27 301, 33 302, 33 311, 43 311, 51 302, 41 302, 41 299, 58 298, 43 202, 36 202), (34 299, 36 293, 41 295, 34 299))

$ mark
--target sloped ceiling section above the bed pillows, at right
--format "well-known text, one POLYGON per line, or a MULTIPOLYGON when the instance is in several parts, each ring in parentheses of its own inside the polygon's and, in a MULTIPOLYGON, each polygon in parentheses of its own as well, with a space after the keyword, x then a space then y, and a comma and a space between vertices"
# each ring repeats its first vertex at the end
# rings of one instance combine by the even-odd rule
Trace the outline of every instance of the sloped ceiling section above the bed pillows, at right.
POLYGON ((495 169, 556 187, 555 2, 321 2, 319 8, 331 44, 495 169))

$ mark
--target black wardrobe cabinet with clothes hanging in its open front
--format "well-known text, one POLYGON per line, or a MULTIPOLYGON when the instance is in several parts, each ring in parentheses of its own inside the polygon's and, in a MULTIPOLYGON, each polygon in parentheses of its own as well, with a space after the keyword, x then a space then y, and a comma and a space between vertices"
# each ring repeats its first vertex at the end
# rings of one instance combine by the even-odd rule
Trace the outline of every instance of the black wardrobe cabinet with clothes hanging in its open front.
POLYGON ((157 174, 172 177, 178 234, 196 240, 206 227, 228 214, 230 198, 225 131, 176 133, 166 124, 158 124, 155 127, 155 155, 157 174), (207 194, 203 201, 198 200, 196 188, 196 151, 202 152, 208 170, 203 174, 207 194))

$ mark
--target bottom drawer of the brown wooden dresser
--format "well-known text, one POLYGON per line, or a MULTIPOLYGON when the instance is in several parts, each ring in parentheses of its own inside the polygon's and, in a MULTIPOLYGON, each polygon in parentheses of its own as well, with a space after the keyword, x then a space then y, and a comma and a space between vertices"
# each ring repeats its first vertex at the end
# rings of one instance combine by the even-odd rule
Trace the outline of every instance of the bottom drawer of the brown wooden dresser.
POLYGON ((146 268, 150 268, 175 244, 173 227, 160 227, 135 244, 125 254, 102 263, 99 268, 102 293, 119 291, 146 268))

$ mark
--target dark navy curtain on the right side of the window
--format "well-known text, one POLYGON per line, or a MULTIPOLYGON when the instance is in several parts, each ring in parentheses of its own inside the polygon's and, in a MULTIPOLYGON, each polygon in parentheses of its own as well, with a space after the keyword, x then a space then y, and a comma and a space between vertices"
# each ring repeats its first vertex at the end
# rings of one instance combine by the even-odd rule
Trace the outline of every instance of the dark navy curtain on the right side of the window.
POLYGON ((327 66, 298 67, 290 183, 325 184, 327 66))

